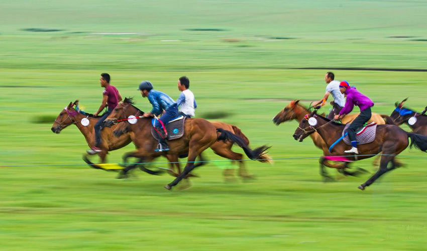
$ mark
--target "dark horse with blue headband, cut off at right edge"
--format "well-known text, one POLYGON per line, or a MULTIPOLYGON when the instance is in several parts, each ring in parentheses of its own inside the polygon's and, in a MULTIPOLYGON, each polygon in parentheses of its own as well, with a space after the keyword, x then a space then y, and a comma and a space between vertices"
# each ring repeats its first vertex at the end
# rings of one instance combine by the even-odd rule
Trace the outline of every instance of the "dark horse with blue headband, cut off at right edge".
POLYGON ((396 102, 394 104, 396 108, 393 110, 390 117, 399 126, 403 123, 406 123, 415 134, 427 136, 427 116, 424 115, 427 107, 425 107, 422 112, 418 113, 403 106, 403 103, 406 100, 407 98, 403 99, 403 101, 400 103, 396 102), (411 119, 412 117, 415 117, 416 119, 411 119))

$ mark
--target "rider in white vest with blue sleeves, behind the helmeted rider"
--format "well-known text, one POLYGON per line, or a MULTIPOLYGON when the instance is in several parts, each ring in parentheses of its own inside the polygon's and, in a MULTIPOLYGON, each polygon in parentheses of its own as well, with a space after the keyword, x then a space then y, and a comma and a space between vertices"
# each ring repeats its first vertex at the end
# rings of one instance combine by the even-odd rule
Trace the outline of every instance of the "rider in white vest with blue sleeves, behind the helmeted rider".
POLYGON ((176 105, 180 106, 179 114, 184 117, 194 116, 194 108, 197 108, 194 94, 188 87, 190 87, 190 80, 186 76, 180 77, 178 79, 178 90, 181 91, 181 94, 176 100, 176 105))

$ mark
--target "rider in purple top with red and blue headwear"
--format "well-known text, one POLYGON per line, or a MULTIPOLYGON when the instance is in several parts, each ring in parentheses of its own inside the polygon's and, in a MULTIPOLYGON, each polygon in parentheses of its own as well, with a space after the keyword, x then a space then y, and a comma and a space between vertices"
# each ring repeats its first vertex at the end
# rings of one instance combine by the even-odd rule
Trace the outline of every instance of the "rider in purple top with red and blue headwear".
POLYGON ((374 102, 372 102, 372 100, 367 96, 360 93, 356 87, 350 87, 350 84, 347 81, 342 81, 340 83, 340 91, 346 95, 347 100, 344 108, 339 114, 335 115, 335 120, 339 120, 350 113, 355 105, 360 108, 359 116, 353 120, 349 128, 346 130, 349 135, 352 148, 351 150, 344 151, 345 153, 359 154, 357 151, 356 130, 371 118, 371 107, 374 106, 374 102))

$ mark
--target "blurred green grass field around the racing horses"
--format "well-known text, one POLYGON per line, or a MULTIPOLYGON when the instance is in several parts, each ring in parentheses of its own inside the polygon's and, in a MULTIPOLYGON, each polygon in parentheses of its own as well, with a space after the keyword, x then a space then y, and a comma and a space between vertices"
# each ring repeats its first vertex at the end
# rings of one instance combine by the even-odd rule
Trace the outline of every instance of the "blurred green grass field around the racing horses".
MULTIPOLYGON (((140 81, 177 98, 187 75, 196 116, 230 113, 220 120, 252 147, 271 145, 275 158, 321 156, 309 139, 292 139, 295 121, 271 121, 288 100, 323 96, 327 70, 294 68, 427 69, 426 12, 425 1, 0 3, 0 165, 82 164, 78 130, 55 135, 53 121, 40 119, 75 99, 94 112, 101 72, 143 110, 140 81)), ((407 96, 409 107, 427 105, 427 72, 334 72, 375 112, 390 114, 407 96)), ((425 154, 406 150, 400 160, 406 168, 363 192, 369 175, 323 183, 317 159, 247 162, 257 178, 249 183, 224 183, 210 163, 190 189, 171 192, 168 175, 124 181, 86 166, 2 167, 0 249, 425 250, 425 154)), ((373 172, 371 163, 357 166, 373 172)))

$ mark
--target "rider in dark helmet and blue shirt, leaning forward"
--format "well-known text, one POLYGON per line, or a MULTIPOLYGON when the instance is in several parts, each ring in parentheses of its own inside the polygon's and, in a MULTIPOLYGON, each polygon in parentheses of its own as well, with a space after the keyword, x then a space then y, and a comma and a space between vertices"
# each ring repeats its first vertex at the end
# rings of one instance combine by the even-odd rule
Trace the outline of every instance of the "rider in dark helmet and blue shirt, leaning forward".
POLYGON ((154 127, 157 134, 159 135, 159 145, 157 145, 156 152, 169 151, 167 145, 167 133, 166 133, 166 124, 173 118, 178 116, 178 106, 173 101, 171 97, 165 93, 157 90, 153 90, 153 85, 150 81, 142 81, 139 84, 141 95, 147 97, 150 101, 153 109, 150 112, 144 112, 144 117, 151 117, 153 115, 159 116, 163 115, 155 120, 154 127))

